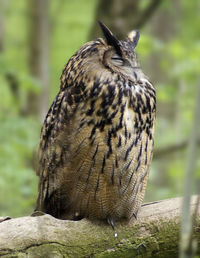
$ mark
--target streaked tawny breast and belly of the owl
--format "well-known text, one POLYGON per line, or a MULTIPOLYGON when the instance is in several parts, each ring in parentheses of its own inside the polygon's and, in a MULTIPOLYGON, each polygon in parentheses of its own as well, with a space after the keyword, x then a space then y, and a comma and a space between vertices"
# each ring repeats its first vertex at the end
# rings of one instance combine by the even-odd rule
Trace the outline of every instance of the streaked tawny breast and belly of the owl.
POLYGON ((129 217, 138 209, 146 186, 153 148, 153 128, 147 122, 152 114, 135 112, 126 96, 115 108, 115 100, 104 106, 101 101, 76 113, 68 136, 65 180, 74 185, 70 195, 78 213, 129 217))

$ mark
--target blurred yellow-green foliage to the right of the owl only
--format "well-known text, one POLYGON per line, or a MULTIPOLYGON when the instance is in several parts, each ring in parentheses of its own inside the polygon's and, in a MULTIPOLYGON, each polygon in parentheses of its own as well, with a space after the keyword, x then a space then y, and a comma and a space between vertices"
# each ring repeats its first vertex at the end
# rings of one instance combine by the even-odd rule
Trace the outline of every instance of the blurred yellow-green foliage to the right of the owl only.
MULTIPOLYGON (((159 70, 165 77, 164 82, 158 80, 156 85, 158 116, 155 148, 165 148, 184 139, 190 139, 196 88, 200 83, 200 5, 186 0, 176 2, 180 5, 180 10, 174 9, 171 1, 163 1, 160 8, 179 16, 177 32, 173 38, 162 41, 151 34, 145 34, 142 35, 137 49, 143 62, 148 56, 160 56, 159 70), (172 106, 172 113, 169 111, 168 115, 164 115, 165 112, 161 112, 159 115, 159 108, 163 106, 169 110, 172 106)), ((197 157, 193 193, 199 193, 200 188, 200 150, 197 157)), ((182 195, 186 162, 187 148, 171 155, 169 153, 168 157, 153 160, 146 200, 182 195)))

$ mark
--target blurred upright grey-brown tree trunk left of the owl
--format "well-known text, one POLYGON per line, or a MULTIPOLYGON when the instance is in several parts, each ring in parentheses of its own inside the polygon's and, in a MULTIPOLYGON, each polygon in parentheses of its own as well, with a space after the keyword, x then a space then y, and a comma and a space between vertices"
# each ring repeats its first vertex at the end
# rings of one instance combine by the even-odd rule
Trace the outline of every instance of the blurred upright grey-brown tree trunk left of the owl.
POLYGON ((41 82, 39 97, 35 92, 28 96, 27 112, 43 120, 49 98, 49 22, 48 0, 29 0, 29 68, 33 77, 41 82))

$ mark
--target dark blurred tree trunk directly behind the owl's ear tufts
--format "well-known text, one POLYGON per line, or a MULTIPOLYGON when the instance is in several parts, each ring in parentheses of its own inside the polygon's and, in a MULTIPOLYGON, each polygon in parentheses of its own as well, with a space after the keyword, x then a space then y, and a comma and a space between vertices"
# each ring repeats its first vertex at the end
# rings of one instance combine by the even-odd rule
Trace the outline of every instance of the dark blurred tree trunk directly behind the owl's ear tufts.
POLYGON ((109 29, 122 39, 133 29, 140 29, 154 14, 161 0, 151 0, 149 5, 141 10, 138 0, 101 0, 96 9, 95 23, 89 33, 89 39, 101 35, 96 21, 103 21, 109 29))

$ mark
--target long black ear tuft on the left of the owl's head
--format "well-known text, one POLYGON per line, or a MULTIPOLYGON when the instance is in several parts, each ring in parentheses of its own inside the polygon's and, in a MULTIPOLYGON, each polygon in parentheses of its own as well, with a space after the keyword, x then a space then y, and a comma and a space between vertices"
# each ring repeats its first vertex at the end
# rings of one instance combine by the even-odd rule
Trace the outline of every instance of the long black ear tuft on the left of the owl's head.
POLYGON ((117 54, 121 56, 122 52, 119 40, 113 35, 113 33, 108 29, 108 27, 106 27, 105 24, 99 21, 99 25, 101 27, 104 37, 106 38, 108 45, 113 46, 117 54))

